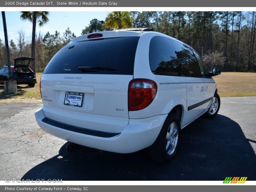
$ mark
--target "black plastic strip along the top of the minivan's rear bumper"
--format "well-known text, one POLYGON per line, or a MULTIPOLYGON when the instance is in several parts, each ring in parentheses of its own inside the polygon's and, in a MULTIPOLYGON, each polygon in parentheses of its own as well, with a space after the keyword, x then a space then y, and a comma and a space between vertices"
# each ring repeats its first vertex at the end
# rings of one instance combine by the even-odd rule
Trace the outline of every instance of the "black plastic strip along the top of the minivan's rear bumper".
POLYGON ((47 117, 44 117, 44 119, 42 121, 44 123, 50 124, 52 126, 55 126, 55 127, 61 128, 61 129, 65 129, 65 130, 73 131, 73 132, 77 132, 77 133, 83 133, 83 134, 86 134, 86 135, 92 135, 92 136, 96 136, 96 137, 109 138, 109 137, 114 137, 114 136, 120 134, 120 133, 95 131, 95 130, 91 130, 91 129, 85 129, 85 128, 82 128, 82 127, 76 127, 76 126, 73 126, 73 125, 68 125, 68 124, 60 123, 58 121, 54 121, 52 119, 48 119, 47 117))

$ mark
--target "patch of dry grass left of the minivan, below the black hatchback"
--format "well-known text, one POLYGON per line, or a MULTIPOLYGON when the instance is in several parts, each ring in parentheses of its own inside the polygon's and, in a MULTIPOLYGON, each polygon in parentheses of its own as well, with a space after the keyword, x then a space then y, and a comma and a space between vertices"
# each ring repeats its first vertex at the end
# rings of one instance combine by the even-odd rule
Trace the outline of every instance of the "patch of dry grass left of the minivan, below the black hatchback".
POLYGON ((36 73, 36 85, 35 87, 28 87, 28 85, 18 85, 17 93, 6 94, 4 93, 4 85, 0 85, 0 104, 5 103, 4 99, 36 99, 41 100, 40 90, 39 90, 39 82, 42 73, 36 73))

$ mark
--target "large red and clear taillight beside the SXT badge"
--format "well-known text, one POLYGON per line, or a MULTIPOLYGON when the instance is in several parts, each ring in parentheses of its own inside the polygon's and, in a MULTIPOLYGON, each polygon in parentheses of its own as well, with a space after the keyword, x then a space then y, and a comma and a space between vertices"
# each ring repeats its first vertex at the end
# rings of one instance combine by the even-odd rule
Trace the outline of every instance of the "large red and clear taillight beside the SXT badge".
POLYGON ((148 79, 133 79, 128 88, 128 110, 137 111, 148 107, 156 96, 157 86, 148 79))

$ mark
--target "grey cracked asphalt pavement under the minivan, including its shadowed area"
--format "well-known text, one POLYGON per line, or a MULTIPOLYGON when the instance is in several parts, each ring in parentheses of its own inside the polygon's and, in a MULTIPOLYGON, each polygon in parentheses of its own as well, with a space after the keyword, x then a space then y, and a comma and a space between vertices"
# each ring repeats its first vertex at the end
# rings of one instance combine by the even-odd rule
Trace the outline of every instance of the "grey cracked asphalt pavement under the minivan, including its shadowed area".
POLYGON ((221 98, 219 114, 200 117, 181 131, 169 164, 142 150, 117 154, 80 147, 43 132, 38 103, 0 104, 0 180, 256 180, 256 97, 221 98))

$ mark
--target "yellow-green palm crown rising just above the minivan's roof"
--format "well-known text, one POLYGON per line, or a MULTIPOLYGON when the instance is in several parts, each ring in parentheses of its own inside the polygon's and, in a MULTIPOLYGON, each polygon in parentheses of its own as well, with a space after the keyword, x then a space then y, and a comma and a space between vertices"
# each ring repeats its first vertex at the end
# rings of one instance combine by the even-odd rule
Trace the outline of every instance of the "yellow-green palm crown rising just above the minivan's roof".
POLYGON ((108 13, 106 22, 106 28, 131 28, 132 27, 132 17, 131 13, 128 11, 113 11, 108 13))

